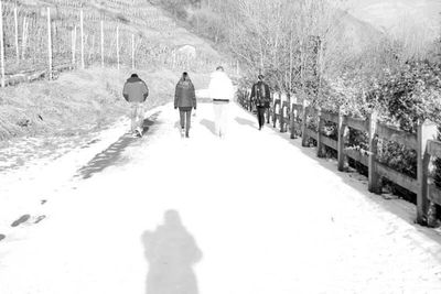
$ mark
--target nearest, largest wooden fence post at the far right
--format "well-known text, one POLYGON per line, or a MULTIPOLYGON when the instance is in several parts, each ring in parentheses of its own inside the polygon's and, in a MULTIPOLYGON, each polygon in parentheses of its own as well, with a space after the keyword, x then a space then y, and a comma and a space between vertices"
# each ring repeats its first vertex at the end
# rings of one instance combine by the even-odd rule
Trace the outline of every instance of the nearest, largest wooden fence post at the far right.
POLYGON ((427 153, 428 140, 437 140, 438 129, 437 124, 426 120, 423 123, 418 126, 418 171, 417 178, 419 189, 417 193, 417 222, 420 225, 427 225, 427 213, 429 208, 428 199, 428 167, 430 164, 430 154, 427 153))

